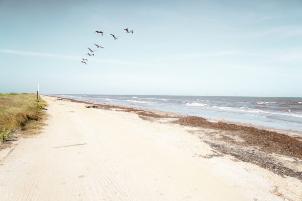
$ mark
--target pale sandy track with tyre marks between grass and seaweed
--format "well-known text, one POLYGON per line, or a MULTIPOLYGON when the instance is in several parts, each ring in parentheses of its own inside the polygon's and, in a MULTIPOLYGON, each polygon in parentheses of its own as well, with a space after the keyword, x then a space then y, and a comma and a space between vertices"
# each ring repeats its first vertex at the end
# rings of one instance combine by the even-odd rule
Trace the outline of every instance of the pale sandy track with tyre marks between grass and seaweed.
POLYGON ((209 148, 179 125, 43 98, 48 125, 1 161, 0 200, 253 200, 192 157, 209 148))

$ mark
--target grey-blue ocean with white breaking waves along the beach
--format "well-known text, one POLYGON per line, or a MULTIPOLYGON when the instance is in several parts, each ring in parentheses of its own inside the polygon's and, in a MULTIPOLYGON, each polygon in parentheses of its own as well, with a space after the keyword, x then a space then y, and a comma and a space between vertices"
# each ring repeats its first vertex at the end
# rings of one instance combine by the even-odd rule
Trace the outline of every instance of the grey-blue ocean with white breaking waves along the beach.
POLYGON ((53 94, 62 98, 156 109, 302 131, 302 98, 53 94))

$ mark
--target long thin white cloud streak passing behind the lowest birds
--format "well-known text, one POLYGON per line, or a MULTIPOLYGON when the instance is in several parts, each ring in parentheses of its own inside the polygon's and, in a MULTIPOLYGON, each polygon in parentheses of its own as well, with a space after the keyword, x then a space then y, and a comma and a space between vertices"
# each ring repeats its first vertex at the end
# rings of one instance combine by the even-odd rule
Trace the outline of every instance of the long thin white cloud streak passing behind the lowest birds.
MULTIPOLYGON (((18 51, 18 50, 8 50, 8 49, 0 49, 0 52, 9 53, 9 54, 19 54, 19 55, 28 55, 28 56, 46 56, 46 57, 58 57, 72 60, 80 60, 81 56, 70 56, 70 55, 61 55, 61 54, 52 54, 52 53, 40 53, 40 52, 30 52, 30 51, 18 51)), ((147 64, 147 63, 137 63, 137 62, 129 62, 123 60, 111 60, 111 59, 96 59, 89 58, 90 61, 95 61, 99 63, 111 63, 111 64, 121 64, 121 65, 137 65, 137 66, 159 66, 162 67, 164 65, 161 64, 147 64)))

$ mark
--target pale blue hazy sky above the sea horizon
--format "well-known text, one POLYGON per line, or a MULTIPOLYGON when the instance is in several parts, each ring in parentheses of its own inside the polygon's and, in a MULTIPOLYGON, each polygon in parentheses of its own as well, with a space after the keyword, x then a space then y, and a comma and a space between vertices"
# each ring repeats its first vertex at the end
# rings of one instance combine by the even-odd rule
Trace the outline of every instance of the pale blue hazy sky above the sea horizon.
POLYGON ((302 1, 0 0, 0 75, 0 93, 302 97, 302 1))

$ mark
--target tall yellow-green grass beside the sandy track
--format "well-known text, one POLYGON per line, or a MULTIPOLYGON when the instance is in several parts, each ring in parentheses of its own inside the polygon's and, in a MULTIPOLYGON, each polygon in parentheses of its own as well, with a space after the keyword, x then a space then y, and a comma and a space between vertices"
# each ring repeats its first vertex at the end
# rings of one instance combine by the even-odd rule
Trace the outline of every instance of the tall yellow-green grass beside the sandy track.
POLYGON ((37 128, 35 122, 45 115, 43 112, 46 102, 41 100, 37 103, 36 94, 0 94, 0 138, 6 139, 9 130, 16 128, 37 128), (35 126, 30 126, 33 124, 35 126))

